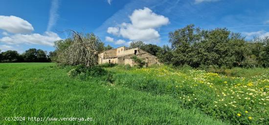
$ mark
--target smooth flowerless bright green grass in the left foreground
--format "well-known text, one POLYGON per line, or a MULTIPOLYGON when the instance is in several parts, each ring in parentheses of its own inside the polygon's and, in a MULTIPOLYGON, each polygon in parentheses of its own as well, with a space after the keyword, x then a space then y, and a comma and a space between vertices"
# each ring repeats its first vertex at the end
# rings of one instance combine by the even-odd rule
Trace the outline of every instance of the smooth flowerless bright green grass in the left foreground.
POLYGON ((0 125, 223 125, 171 96, 79 81, 53 63, 0 64, 0 125), (5 117, 92 117, 92 122, 7 122, 5 117))

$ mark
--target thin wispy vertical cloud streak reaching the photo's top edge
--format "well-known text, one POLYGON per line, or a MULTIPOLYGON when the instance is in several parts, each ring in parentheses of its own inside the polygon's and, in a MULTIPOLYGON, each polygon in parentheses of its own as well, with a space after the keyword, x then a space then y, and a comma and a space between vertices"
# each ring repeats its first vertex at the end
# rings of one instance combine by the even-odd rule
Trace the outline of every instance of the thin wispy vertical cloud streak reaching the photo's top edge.
POLYGON ((58 8, 59 8, 59 0, 52 0, 51 7, 49 10, 49 20, 47 24, 47 31, 51 30, 51 28, 56 24, 59 18, 58 8))

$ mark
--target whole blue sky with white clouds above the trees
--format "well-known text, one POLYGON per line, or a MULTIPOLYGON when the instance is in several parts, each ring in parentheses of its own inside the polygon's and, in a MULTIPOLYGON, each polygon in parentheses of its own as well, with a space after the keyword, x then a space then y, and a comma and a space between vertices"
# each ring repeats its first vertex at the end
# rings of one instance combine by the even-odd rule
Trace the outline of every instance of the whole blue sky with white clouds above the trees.
POLYGON ((54 51, 67 30, 94 33, 105 45, 142 40, 169 45, 188 24, 227 28, 246 39, 269 36, 269 0, 1 0, 0 50, 54 51))

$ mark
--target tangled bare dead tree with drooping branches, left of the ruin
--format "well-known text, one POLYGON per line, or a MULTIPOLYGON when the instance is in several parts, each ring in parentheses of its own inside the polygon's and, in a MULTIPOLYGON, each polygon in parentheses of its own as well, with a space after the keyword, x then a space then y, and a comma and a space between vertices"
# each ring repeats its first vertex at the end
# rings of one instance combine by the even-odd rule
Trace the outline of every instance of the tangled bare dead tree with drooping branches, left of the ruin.
POLYGON ((98 63, 98 45, 100 39, 91 34, 81 34, 73 30, 71 39, 73 43, 57 55, 57 62, 65 65, 85 65, 91 67, 98 63))

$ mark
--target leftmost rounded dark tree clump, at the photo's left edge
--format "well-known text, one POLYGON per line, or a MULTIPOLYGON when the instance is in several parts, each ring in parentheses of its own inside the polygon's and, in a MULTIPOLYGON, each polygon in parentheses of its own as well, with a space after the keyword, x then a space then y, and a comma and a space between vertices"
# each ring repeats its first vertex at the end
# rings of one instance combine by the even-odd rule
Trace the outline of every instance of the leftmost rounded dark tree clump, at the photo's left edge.
POLYGON ((21 57, 17 51, 6 51, 1 53, 1 62, 20 62, 21 57))

